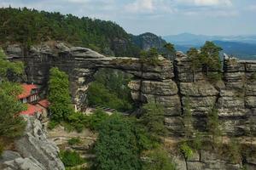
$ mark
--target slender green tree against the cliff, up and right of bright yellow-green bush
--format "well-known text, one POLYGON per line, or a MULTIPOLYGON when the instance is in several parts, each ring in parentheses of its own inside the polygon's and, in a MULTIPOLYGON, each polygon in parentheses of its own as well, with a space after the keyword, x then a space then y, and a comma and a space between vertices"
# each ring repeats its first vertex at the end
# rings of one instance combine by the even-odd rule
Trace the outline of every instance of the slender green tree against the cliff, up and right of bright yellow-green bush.
POLYGON ((221 129, 218 120, 218 110, 216 108, 212 108, 212 111, 208 113, 207 130, 212 136, 212 143, 217 144, 218 137, 221 135, 221 129))

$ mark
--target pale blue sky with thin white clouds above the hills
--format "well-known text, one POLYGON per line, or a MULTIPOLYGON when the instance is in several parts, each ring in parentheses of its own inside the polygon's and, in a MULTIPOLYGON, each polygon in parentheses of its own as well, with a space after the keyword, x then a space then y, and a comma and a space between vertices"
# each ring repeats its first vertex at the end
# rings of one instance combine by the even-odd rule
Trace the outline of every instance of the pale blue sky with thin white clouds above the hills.
POLYGON ((112 20, 135 35, 256 35, 256 0, 0 0, 9 5, 112 20))

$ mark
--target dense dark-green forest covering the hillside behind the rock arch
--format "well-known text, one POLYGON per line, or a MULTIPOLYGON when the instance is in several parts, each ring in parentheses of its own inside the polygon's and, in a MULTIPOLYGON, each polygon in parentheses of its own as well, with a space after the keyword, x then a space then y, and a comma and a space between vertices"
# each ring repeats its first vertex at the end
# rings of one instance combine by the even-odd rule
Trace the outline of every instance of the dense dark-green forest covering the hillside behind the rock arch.
POLYGON ((19 42, 24 49, 45 41, 63 41, 102 54, 137 56, 131 35, 112 21, 28 8, 0 8, 0 44, 19 42))

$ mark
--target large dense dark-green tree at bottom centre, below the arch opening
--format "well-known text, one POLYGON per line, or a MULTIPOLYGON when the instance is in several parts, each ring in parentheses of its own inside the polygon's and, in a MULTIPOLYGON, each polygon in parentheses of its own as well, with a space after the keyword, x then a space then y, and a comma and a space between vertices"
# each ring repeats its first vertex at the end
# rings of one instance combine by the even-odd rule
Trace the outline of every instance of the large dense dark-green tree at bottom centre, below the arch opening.
POLYGON ((140 169, 140 150, 134 124, 128 119, 112 115, 99 128, 96 141, 96 169, 140 169))

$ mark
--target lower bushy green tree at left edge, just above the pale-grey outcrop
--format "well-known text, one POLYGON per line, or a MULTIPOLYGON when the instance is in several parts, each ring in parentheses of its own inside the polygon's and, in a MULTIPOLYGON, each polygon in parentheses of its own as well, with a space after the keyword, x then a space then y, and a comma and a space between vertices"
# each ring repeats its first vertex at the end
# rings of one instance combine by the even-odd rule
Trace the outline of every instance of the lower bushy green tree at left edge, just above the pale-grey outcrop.
POLYGON ((21 88, 14 82, 0 82, 0 136, 16 137, 23 134, 26 122, 19 115, 26 105, 17 99, 21 88))

